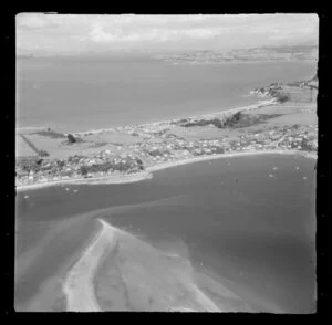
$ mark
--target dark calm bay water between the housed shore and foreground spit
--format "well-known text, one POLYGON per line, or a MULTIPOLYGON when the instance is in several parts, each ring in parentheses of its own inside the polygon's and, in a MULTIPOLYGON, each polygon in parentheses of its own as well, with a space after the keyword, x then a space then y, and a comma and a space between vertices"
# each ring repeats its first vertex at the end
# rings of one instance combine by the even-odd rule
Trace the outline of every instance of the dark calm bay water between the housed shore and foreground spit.
POLYGON ((20 192, 15 300, 29 301, 86 244, 95 230, 93 220, 103 218, 231 281, 249 304, 259 296, 290 313, 310 312, 315 273, 313 167, 308 158, 258 155, 160 170, 136 184, 20 192), (272 170, 274 166, 279 169, 272 170))

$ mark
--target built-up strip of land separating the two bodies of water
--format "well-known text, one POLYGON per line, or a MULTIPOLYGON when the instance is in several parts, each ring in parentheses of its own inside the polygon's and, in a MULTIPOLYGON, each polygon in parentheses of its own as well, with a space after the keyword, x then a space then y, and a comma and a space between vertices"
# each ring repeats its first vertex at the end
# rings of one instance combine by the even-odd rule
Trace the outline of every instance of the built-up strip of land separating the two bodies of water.
POLYGON ((318 77, 253 90, 257 105, 145 125, 62 134, 17 129, 17 189, 128 182, 211 158, 260 153, 315 157, 318 77))

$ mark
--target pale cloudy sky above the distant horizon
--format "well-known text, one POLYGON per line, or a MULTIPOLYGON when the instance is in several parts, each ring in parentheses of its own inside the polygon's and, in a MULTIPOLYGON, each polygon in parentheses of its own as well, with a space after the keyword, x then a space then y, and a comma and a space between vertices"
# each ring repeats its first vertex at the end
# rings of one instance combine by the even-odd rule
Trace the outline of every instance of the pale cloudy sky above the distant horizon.
POLYGON ((193 51, 317 44, 317 14, 81 15, 20 13, 17 53, 193 51))

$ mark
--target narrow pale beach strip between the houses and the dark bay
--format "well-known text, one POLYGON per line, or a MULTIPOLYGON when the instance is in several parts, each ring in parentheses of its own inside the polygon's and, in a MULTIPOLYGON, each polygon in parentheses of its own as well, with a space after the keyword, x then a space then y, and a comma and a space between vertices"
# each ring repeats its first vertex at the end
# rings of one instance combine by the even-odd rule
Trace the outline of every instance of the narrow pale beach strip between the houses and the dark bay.
POLYGON ((137 182, 145 179, 153 178, 153 172, 157 170, 163 170, 172 167, 183 166, 187 164, 194 164, 199 161, 215 160, 220 158, 232 158, 242 156, 255 156, 255 155, 300 155, 309 159, 317 159, 315 155, 308 154, 301 150, 262 150, 262 151, 242 151, 242 153, 229 153, 229 154, 218 154, 204 157, 195 157, 189 159, 181 159, 178 161, 164 162, 155 166, 149 166, 145 171, 135 175, 118 175, 118 176, 105 176, 105 177, 94 177, 94 178, 76 178, 76 179, 63 179, 48 182, 39 182, 32 185, 15 186, 17 192, 28 191, 34 189, 41 189, 51 186, 59 185, 112 185, 112 184, 129 184, 137 182))

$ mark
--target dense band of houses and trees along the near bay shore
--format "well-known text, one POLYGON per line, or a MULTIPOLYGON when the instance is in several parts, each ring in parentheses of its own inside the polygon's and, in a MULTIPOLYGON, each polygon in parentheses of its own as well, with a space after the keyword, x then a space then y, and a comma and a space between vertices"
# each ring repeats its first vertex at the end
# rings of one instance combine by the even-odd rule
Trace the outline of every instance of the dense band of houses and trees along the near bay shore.
MULTIPOLYGON (((132 130, 132 129, 129 129, 132 130)), ((128 130, 128 132, 129 132, 128 130)), ((133 174, 147 166, 176 161, 196 156, 224 153, 297 149, 314 153, 318 149, 318 126, 274 127, 260 132, 248 132, 237 138, 186 140, 166 132, 154 132, 158 141, 142 141, 123 145, 116 150, 102 150, 90 156, 75 155, 65 160, 31 158, 17 161, 18 185, 52 180, 103 177, 116 172, 133 174)))

